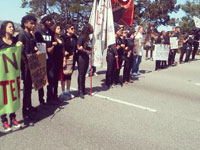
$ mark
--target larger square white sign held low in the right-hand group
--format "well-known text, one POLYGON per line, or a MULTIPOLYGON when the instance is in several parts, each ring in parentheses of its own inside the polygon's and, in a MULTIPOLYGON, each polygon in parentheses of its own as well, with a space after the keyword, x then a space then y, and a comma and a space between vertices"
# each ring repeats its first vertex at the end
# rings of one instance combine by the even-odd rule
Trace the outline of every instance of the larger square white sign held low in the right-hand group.
POLYGON ((169 45, 156 44, 153 52, 153 60, 168 60, 169 45))

